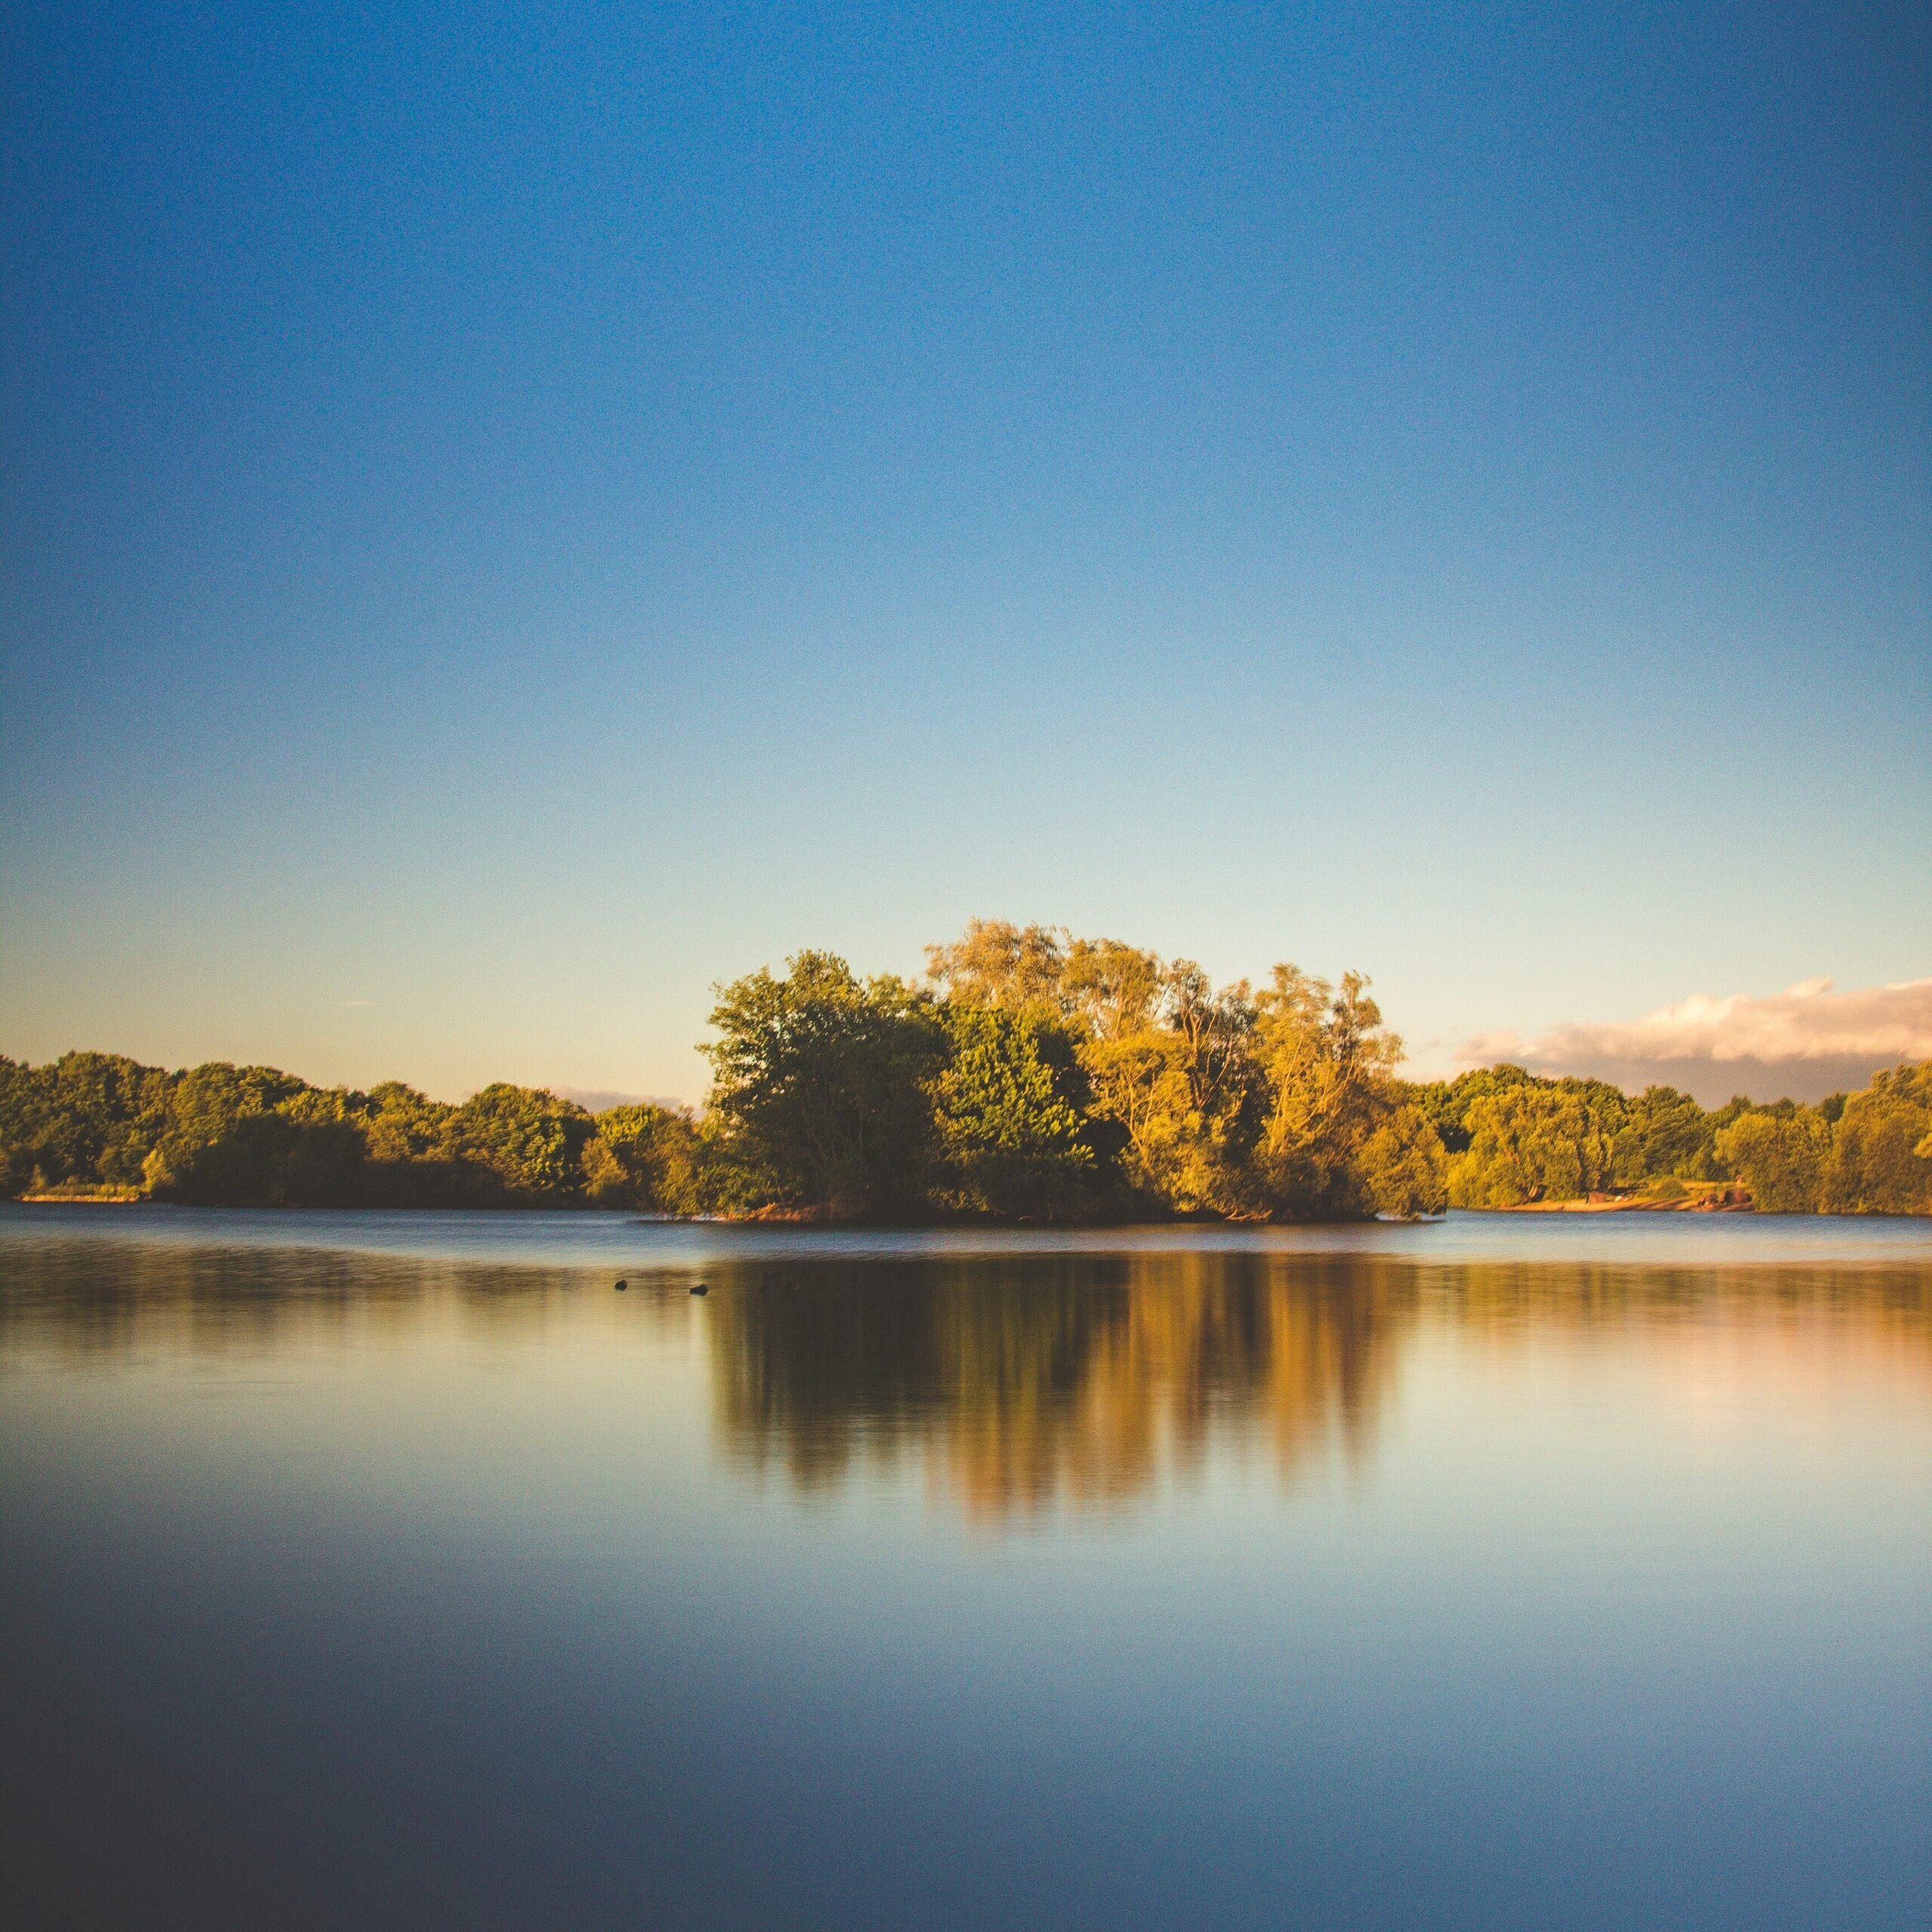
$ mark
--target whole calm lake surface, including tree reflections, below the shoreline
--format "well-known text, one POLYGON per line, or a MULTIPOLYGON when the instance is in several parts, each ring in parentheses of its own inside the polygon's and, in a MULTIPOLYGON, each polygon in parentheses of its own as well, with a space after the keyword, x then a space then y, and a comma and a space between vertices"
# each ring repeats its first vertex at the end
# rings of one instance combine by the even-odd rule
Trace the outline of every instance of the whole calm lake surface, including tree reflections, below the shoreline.
POLYGON ((0 1619, 14 1924, 1924 1928, 1932 1227, 0 1209, 0 1619))

